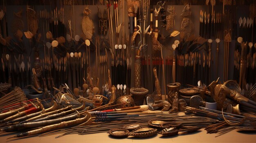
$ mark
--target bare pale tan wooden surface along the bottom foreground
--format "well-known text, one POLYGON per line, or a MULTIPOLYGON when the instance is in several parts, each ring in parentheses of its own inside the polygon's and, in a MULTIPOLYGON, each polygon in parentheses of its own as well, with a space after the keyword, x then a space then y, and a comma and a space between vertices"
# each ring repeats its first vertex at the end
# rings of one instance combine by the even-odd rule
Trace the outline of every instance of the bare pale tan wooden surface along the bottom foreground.
POLYGON ((238 130, 233 130, 222 136, 218 136, 218 134, 207 134, 204 129, 201 129, 198 132, 190 134, 179 133, 179 135, 172 137, 161 137, 160 134, 157 134, 146 139, 137 139, 132 136, 115 139, 109 136, 108 133, 98 133, 86 135, 71 134, 57 139, 55 137, 58 134, 7 140, 7 138, 13 135, 15 134, 0 133, 0 143, 256 143, 256 132, 241 132, 238 130))

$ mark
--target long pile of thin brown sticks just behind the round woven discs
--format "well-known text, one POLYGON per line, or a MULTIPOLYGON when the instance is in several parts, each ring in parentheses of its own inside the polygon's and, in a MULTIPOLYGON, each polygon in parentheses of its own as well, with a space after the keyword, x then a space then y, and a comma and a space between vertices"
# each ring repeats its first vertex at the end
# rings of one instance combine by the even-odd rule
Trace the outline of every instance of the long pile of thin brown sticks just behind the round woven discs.
POLYGON ((182 123, 182 125, 186 126, 197 126, 197 127, 206 127, 211 123, 218 122, 216 119, 211 119, 207 117, 199 117, 199 116, 191 116, 191 115, 176 115, 169 113, 150 113, 150 112, 139 112, 139 113, 131 113, 131 115, 137 115, 131 118, 124 117, 119 121, 108 121, 108 122, 98 122, 97 125, 86 125, 86 126, 76 126, 71 129, 59 129, 53 130, 51 132, 46 132, 40 134, 40 136, 49 136, 53 134, 60 134, 57 136, 65 136, 67 134, 93 134, 93 133, 101 133, 106 132, 113 128, 122 128, 124 125, 132 124, 132 123, 140 123, 142 126, 147 126, 148 121, 155 120, 163 120, 166 122, 177 122, 182 123))

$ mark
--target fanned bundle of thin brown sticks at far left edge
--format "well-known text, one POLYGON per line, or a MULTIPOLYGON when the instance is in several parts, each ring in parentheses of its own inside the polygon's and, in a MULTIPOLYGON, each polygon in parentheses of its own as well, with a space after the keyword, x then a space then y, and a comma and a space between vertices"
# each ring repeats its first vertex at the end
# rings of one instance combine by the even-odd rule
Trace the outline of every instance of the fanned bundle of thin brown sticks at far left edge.
POLYGON ((0 108, 3 109, 6 106, 20 103, 25 100, 27 100, 25 93, 22 91, 21 88, 16 87, 14 88, 14 90, 0 98, 0 108))

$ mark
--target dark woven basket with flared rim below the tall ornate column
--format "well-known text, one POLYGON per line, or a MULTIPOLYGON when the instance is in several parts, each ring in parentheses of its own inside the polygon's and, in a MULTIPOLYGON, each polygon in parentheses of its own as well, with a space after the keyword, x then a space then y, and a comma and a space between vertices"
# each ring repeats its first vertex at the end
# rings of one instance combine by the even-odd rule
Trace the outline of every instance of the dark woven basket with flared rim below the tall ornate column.
POLYGON ((144 98, 148 94, 148 90, 145 88, 131 88, 130 93, 133 95, 133 99, 137 106, 143 105, 144 98))

